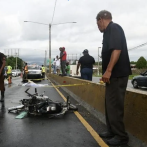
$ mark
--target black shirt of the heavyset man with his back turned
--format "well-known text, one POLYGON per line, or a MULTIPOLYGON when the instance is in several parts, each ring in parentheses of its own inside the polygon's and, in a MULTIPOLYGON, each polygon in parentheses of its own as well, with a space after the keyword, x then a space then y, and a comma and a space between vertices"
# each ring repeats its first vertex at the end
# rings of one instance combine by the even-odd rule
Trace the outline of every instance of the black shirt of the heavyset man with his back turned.
POLYGON ((85 54, 79 59, 79 62, 81 64, 81 69, 83 68, 93 68, 93 64, 95 63, 95 60, 92 56, 89 54, 85 54))

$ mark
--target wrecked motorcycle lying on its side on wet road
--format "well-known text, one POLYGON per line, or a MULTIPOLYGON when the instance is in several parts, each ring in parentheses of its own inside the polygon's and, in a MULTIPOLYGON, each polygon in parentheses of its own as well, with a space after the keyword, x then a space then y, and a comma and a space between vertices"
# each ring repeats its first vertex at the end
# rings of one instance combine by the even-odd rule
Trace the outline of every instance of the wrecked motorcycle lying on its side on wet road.
POLYGON ((8 108, 8 112, 22 112, 26 111, 28 115, 44 115, 49 114, 52 117, 64 115, 67 111, 77 111, 78 108, 70 103, 69 96, 66 102, 53 102, 44 93, 39 95, 37 88, 35 94, 28 92, 29 88, 25 91, 30 98, 21 100, 22 105, 8 108))

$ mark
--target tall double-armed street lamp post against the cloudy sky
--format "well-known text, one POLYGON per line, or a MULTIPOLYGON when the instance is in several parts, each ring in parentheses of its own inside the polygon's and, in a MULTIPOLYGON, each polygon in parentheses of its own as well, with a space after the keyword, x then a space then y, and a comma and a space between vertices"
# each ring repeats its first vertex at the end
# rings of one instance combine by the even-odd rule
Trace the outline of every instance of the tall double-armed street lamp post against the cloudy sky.
POLYGON ((60 24, 66 24, 66 23, 76 23, 76 22, 65 22, 65 23, 57 23, 57 24, 51 24, 51 23, 45 24, 45 23, 34 22, 34 21, 24 21, 24 22, 31 22, 31 23, 37 23, 37 24, 49 26, 49 73, 51 73, 51 27, 53 25, 60 25, 60 24))

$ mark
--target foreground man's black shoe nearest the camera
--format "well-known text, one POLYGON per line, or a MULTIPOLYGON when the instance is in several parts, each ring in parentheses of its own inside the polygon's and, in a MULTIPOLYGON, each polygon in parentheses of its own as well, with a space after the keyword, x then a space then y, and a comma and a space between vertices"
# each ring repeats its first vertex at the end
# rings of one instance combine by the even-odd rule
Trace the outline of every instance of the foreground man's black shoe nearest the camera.
POLYGON ((117 136, 107 140, 108 145, 112 146, 120 146, 120 145, 127 145, 129 142, 128 138, 118 138, 117 136))

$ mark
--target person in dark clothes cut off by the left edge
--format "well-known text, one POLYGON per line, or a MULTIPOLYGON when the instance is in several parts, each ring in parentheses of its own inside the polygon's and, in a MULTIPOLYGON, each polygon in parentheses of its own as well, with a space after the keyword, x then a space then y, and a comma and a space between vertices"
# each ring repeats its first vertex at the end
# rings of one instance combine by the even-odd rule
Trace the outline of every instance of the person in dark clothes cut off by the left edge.
MULTIPOLYGON (((5 64, 6 64, 6 56, 3 53, 0 53, 0 90, 1 90, 0 102, 4 102, 4 92, 5 92, 4 67, 5 67, 5 64)), ((3 103, 2 107, 4 107, 4 103, 3 103)))

